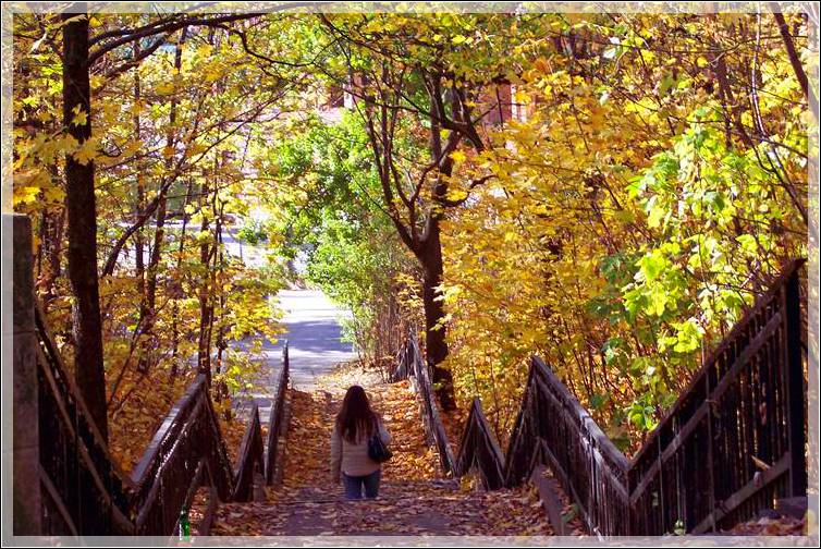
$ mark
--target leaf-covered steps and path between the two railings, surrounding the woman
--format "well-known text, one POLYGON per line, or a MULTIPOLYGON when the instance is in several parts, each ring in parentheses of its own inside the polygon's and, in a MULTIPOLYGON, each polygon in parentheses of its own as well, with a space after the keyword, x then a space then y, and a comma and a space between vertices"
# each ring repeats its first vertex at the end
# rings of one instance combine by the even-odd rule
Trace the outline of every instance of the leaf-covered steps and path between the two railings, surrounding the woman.
POLYGON ((266 502, 221 505, 212 535, 552 535, 531 488, 478 492, 469 483, 441 479, 415 399, 407 382, 387 385, 353 366, 324 377, 313 392, 293 391, 282 486, 266 502), (366 387, 393 437, 394 455, 373 501, 344 501, 331 480, 333 415, 352 383, 366 387))

